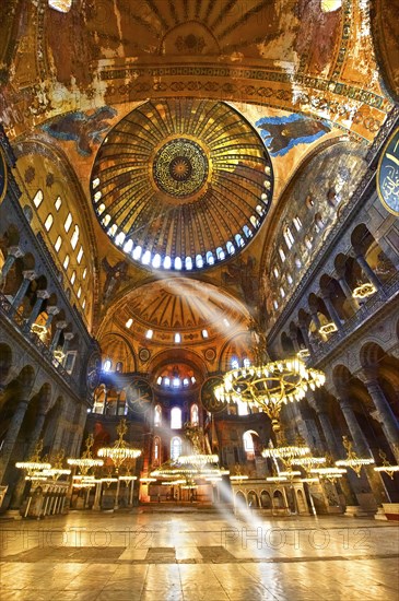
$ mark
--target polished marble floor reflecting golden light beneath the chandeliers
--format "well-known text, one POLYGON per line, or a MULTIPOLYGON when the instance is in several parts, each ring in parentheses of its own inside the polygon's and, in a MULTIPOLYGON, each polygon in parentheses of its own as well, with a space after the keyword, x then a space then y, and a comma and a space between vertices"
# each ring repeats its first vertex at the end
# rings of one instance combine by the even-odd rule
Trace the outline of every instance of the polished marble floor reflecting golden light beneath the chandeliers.
POLYGON ((0 520, 0 600, 398 601, 398 523, 80 511, 0 520))

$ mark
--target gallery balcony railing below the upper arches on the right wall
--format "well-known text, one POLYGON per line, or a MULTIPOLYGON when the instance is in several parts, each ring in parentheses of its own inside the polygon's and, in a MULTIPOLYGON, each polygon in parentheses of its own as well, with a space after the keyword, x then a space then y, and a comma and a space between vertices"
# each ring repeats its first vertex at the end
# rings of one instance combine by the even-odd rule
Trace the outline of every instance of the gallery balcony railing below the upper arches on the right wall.
POLYGON ((399 295, 399 272, 396 272, 382 287, 363 303, 357 311, 342 323, 341 328, 333 332, 327 341, 312 340, 312 356, 308 362, 317 364, 329 355, 342 341, 375 316, 383 307, 399 295))

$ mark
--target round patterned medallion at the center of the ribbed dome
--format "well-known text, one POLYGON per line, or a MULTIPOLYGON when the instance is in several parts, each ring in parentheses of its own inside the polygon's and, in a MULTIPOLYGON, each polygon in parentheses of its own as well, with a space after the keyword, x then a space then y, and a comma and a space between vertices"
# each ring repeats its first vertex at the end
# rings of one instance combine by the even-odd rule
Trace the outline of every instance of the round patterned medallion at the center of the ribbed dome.
POLYGON ((176 138, 161 146, 152 169, 160 190, 172 197, 185 198, 197 193, 206 184, 208 157, 193 140, 176 138))

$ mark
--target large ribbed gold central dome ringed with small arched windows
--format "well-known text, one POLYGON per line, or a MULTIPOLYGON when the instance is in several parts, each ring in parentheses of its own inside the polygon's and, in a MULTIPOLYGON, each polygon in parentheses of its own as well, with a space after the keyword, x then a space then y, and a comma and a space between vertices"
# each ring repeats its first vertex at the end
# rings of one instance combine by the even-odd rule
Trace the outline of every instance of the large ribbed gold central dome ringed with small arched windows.
POLYGON ((155 269, 203 269, 237 254, 265 220, 271 162, 224 103, 146 102, 109 132, 92 198, 113 241, 155 269))

